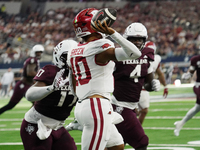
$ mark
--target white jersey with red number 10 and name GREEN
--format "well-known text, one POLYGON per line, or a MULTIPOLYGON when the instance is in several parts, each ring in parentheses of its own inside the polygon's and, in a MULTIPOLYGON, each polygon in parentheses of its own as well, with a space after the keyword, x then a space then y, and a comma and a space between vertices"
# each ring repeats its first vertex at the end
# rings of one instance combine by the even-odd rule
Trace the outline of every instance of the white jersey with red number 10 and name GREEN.
POLYGON ((77 47, 68 53, 68 65, 75 75, 76 94, 80 100, 94 94, 110 99, 114 89, 113 70, 114 62, 105 65, 97 64, 95 56, 109 48, 114 48, 114 43, 108 39, 99 39, 77 47))

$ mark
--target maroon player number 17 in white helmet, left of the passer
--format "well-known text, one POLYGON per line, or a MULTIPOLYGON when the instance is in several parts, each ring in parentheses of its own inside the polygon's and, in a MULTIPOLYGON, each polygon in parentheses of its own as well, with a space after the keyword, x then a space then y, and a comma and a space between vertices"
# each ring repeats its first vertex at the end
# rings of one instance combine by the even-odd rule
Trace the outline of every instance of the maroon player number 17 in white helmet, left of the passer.
POLYGON ((41 68, 34 77, 36 83, 26 92, 35 102, 25 114, 20 135, 25 150, 76 150, 74 139, 63 127, 77 98, 69 87, 67 54, 77 42, 64 40, 53 51, 54 65, 41 68))

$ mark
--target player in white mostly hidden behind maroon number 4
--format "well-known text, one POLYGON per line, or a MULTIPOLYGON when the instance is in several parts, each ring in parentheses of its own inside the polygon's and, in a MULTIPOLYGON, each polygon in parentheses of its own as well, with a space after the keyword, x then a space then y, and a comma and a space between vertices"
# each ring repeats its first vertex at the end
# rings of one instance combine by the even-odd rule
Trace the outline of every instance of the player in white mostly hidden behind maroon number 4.
MULTIPOLYGON (((145 47, 152 48, 156 52, 156 45, 155 45, 155 43, 153 43, 151 41, 147 41, 145 43, 145 47)), ((160 80, 160 83, 164 86, 163 96, 164 96, 164 98, 166 98, 168 95, 168 88, 167 88, 167 84, 165 81, 164 73, 162 72, 162 70, 160 68, 160 62, 161 62, 161 57, 158 54, 155 54, 154 61, 151 62, 151 66, 153 68, 153 72, 158 75, 158 79, 160 80)), ((145 89, 143 89, 141 91, 140 100, 138 103, 138 108, 139 108, 138 119, 141 124, 143 123, 143 121, 148 113, 149 100, 150 100, 149 92, 146 91, 145 89)))

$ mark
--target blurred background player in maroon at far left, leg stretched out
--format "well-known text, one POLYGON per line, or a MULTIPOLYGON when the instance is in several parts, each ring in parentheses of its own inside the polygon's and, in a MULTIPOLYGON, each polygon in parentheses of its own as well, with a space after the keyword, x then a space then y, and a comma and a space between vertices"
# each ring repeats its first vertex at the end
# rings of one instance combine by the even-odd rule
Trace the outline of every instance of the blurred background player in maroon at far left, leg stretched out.
POLYGON ((44 47, 40 44, 33 46, 30 57, 27 58, 23 66, 23 77, 15 85, 13 95, 7 105, 0 109, 0 114, 15 107, 19 101, 25 96, 27 89, 33 85, 33 78, 36 75, 44 47))

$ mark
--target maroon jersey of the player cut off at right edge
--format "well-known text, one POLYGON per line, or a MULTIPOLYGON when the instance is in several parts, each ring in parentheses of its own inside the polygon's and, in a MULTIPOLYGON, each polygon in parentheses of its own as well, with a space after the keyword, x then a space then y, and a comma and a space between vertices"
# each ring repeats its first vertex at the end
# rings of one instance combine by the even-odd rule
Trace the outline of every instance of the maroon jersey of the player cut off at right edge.
POLYGON ((196 70, 196 82, 200 82, 200 55, 193 56, 190 60, 190 65, 194 67, 194 70, 196 70))

